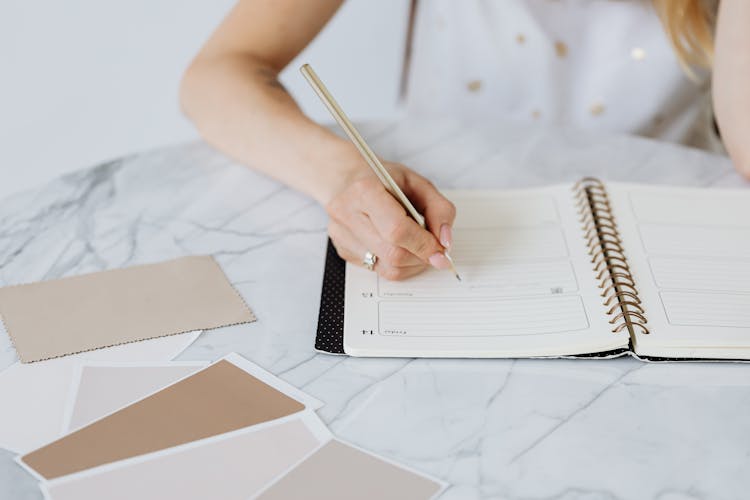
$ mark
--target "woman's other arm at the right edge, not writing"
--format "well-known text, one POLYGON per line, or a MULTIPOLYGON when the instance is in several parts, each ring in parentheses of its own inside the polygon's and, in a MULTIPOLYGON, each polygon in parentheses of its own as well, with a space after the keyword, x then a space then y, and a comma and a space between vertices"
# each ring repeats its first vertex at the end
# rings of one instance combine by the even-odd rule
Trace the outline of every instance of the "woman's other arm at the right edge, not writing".
POLYGON ((716 24, 713 101, 724 145, 750 179, 750 2, 721 0, 716 24))

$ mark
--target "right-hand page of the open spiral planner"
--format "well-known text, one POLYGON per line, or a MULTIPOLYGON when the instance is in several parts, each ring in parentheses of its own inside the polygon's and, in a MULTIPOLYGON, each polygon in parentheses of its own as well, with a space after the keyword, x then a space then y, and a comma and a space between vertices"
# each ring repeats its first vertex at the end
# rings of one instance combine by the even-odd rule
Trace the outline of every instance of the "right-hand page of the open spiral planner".
POLYGON ((636 351, 747 356, 750 191, 607 188, 652 331, 636 351))

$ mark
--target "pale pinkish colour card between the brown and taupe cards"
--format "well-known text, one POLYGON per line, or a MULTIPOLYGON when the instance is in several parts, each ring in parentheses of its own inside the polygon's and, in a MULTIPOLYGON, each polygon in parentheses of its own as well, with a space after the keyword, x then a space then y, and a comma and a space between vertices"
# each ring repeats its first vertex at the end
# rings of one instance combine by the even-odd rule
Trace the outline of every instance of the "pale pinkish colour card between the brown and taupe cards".
POLYGON ((49 486, 55 500, 245 500, 320 442, 300 420, 49 486))

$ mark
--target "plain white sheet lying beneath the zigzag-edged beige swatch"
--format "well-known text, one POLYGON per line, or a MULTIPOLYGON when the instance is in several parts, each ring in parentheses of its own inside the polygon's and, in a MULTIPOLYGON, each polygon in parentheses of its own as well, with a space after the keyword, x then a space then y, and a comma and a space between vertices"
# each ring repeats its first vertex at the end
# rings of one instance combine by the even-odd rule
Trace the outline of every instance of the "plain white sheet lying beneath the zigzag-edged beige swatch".
POLYGON ((200 331, 170 335, 132 344, 51 359, 15 363, 0 373, 0 448, 25 453, 63 432, 71 382, 77 367, 87 361, 169 361, 184 351, 200 331))

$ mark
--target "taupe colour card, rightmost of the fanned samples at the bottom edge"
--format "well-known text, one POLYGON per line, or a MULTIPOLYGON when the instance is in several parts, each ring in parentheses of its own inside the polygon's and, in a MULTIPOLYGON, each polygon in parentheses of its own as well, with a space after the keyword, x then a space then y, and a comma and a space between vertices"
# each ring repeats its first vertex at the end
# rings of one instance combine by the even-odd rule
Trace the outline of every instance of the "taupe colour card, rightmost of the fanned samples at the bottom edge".
POLYGON ((258 499, 419 500, 440 484, 340 441, 330 441, 264 491, 258 499))

